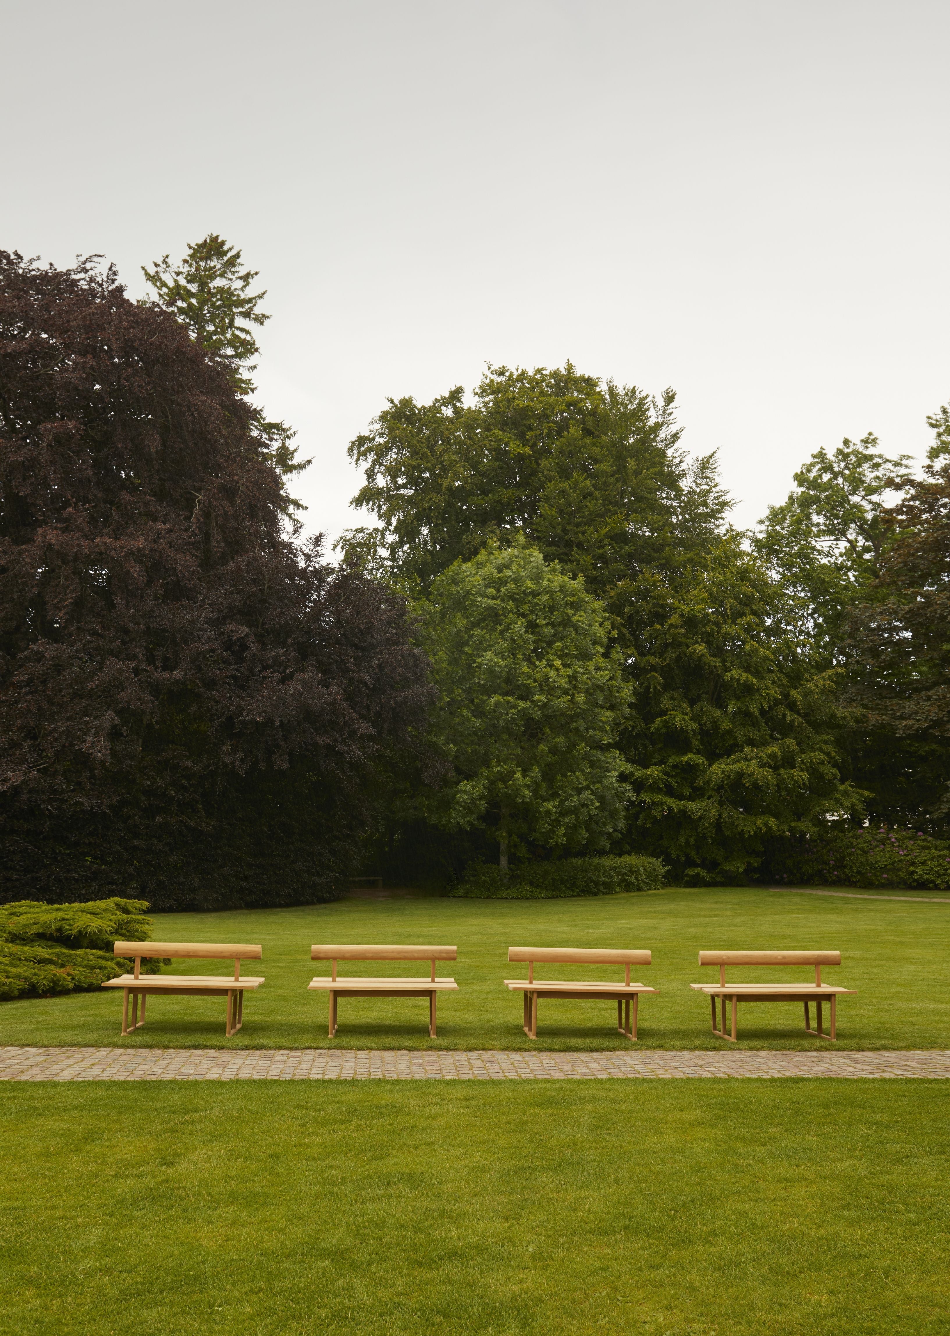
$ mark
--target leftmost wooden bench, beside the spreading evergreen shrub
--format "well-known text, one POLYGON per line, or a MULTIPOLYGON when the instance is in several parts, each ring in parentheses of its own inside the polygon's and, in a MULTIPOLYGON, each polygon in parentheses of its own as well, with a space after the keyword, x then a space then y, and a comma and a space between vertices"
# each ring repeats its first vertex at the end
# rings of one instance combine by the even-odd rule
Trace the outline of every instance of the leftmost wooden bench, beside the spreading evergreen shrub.
POLYGON ((212 942, 116 942, 114 955, 135 959, 135 973, 107 979, 104 989, 122 989, 122 1033, 128 1034, 146 1023, 146 998, 152 997, 227 997, 224 1034, 230 1039, 243 1025, 245 993, 257 989, 263 979, 241 978, 242 961, 259 961, 259 946, 223 946, 212 942), (142 974, 142 961, 154 959, 234 961, 234 978, 226 974, 142 974), (128 1023, 128 999, 132 998, 132 1023, 128 1023), (142 1019, 139 1014, 142 998, 142 1019))

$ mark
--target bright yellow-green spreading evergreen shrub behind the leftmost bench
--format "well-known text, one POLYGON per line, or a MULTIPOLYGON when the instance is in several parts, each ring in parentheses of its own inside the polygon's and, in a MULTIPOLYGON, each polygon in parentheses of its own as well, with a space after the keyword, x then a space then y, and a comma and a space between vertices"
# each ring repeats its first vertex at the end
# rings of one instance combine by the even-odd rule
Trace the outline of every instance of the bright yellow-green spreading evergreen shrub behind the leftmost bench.
MULTIPOLYGON (((84 904, 17 900, 0 908, 0 1001, 98 989, 130 969, 112 955, 116 941, 146 942, 152 921, 144 900, 115 896, 84 904)), ((158 974, 159 961, 143 961, 158 974)))

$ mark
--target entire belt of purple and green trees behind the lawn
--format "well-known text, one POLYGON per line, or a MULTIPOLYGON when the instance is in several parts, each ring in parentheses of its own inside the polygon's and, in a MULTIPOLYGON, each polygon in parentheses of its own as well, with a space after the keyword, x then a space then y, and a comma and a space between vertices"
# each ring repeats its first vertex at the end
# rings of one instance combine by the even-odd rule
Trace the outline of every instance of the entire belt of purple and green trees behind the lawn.
MULTIPOLYGON (((0 903, 950 836, 950 407, 922 476, 819 442, 739 533, 672 390, 489 366, 353 441, 375 524, 333 565, 250 398, 258 273, 218 234, 143 273, 0 253, 0 903)), ((899 875, 856 850, 836 878, 899 875)))

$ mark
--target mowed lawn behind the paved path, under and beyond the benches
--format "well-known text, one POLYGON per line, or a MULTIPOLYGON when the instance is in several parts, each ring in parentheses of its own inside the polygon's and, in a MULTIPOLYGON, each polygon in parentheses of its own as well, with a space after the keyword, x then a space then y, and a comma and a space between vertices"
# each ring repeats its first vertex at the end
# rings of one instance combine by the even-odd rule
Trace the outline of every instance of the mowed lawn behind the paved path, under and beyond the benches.
MULTIPOLYGON (((731 1047, 711 1033, 709 1003, 691 982, 716 982, 700 970, 703 949, 830 949, 843 965, 824 979, 855 990, 838 1006, 838 1049, 950 1047, 950 904, 835 899, 767 890, 664 890, 601 899, 504 902, 394 898, 347 899, 287 910, 155 916, 155 939, 259 942, 263 959, 245 966, 266 983, 245 1005, 245 1026, 224 1038, 224 1002, 150 998, 142 1030, 120 1037, 122 993, 0 1003, 0 1043, 123 1045, 130 1047, 444 1047, 623 1049, 612 1002, 541 999, 538 1037, 521 1029, 520 993, 505 978, 526 978, 508 965, 509 946, 648 947, 653 963, 633 977, 659 989, 640 1003, 640 1047, 731 1047), (438 1002, 438 1035, 429 1038, 428 1001, 343 998, 339 1029, 327 1039, 327 997, 309 993, 313 942, 445 943, 458 947, 452 974, 458 993, 438 1002)), ((345 962, 341 974, 424 974, 428 962, 345 962)), ((170 973, 226 973, 227 962, 176 961, 170 973)), ((544 966, 538 978, 623 978, 621 967, 544 966)), ((812 970, 730 973, 742 981, 814 979, 812 970)), ((812 1013, 814 1023, 814 1013, 812 1013)), ((827 1011, 826 1011, 827 1026, 827 1011)), ((740 1003, 739 1047, 823 1049, 804 1033, 798 1003, 740 1003)))

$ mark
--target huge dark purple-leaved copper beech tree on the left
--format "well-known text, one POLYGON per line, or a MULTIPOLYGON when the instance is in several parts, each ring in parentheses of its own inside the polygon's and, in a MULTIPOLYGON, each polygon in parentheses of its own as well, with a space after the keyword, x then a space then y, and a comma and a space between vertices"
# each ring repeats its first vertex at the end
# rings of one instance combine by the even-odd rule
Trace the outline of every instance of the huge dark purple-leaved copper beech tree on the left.
POLYGON ((430 688, 401 600, 286 512, 171 314, 0 253, 0 900, 339 887, 430 688))

